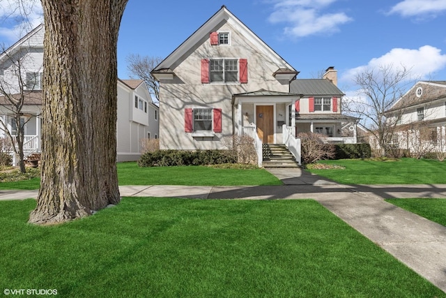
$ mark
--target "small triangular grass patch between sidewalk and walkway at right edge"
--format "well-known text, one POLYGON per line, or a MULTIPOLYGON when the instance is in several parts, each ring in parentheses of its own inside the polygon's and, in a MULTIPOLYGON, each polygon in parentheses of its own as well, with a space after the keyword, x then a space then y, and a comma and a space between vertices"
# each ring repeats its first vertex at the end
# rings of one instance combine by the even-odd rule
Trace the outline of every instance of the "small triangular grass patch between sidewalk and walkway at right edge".
POLYGON ((388 199, 386 201, 446 227, 446 199, 388 199))

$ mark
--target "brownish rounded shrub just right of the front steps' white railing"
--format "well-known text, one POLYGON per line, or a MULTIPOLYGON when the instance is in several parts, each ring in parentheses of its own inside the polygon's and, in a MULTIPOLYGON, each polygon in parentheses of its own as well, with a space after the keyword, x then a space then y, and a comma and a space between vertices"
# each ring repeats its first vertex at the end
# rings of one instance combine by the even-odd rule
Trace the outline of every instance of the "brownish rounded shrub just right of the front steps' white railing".
POLYGON ((334 145, 323 142, 325 135, 319 133, 299 133, 303 163, 315 163, 322 159, 334 158, 334 145))

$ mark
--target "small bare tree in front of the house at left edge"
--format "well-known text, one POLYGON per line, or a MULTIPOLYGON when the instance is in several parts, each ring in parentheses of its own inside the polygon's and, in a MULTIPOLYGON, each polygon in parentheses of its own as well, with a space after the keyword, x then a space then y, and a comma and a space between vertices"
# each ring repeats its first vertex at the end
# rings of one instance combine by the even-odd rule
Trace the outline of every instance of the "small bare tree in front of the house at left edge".
POLYGON ((37 115, 29 115, 26 119, 23 117, 23 107, 31 100, 40 98, 41 94, 36 94, 36 89, 40 84, 40 71, 33 69, 28 71, 26 65, 32 62, 28 55, 30 47, 23 47, 20 51, 11 54, 5 47, 2 47, 0 57, 3 63, 10 65, 8 75, 3 75, 0 79, 0 109, 5 117, 0 117, 0 130, 9 138, 13 144, 13 154, 18 158, 20 172, 26 172, 24 163, 24 127, 28 121, 37 115), (6 80, 6 77, 10 80, 6 80), (11 122, 8 122, 8 119, 11 122), (8 129, 8 124, 14 131, 8 129))

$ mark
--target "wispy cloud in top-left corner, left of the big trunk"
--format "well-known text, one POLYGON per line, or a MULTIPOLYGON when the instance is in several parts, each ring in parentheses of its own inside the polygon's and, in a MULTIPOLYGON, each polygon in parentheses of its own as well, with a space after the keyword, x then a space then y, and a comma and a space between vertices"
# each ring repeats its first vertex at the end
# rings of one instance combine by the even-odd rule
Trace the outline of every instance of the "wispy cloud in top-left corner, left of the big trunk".
POLYGON ((43 10, 38 0, 0 0, 0 40, 14 43, 43 22, 43 10))

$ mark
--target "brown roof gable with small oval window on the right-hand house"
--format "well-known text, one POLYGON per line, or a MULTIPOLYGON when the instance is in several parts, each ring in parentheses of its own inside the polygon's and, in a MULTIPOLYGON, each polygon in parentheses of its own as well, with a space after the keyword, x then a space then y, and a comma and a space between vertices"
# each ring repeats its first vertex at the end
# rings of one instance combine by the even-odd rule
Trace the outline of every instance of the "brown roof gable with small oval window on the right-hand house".
POLYGON ((392 107, 385 112, 393 112, 434 100, 446 98, 446 81, 420 81, 413 85, 392 107), (417 96, 417 89, 421 88, 422 94, 417 96))

